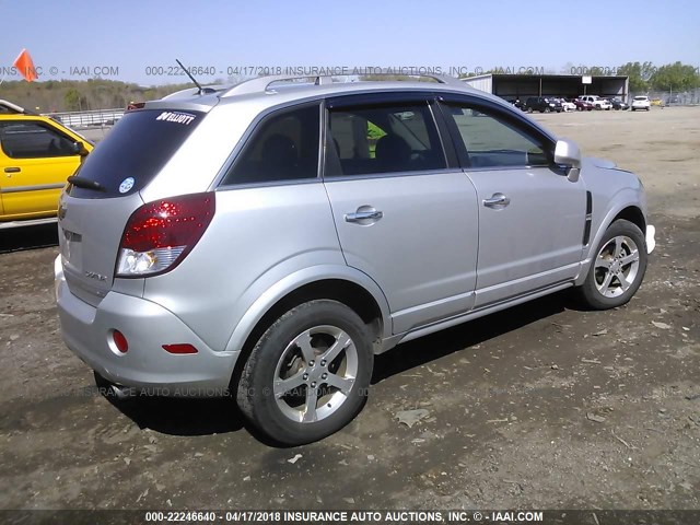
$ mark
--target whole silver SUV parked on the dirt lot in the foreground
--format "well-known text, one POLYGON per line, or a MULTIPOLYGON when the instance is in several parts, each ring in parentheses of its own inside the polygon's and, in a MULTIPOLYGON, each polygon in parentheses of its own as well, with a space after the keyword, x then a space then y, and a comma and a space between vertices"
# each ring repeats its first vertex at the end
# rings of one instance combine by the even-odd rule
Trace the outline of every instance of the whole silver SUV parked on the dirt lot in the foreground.
POLYGON ((301 444, 353 419, 401 341, 571 287, 629 301, 654 245, 638 177, 433 80, 258 78, 129 110, 60 199, 68 347, 115 392, 230 393, 301 444))

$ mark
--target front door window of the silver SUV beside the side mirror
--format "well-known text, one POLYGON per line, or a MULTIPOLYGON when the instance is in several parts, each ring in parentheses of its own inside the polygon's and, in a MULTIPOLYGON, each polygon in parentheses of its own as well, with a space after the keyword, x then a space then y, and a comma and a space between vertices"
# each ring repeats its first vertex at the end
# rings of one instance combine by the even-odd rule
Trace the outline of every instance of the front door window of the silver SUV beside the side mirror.
POLYGON ((509 167, 549 165, 548 147, 514 122, 488 109, 448 104, 447 118, 456 126, 467 165, 509 167))

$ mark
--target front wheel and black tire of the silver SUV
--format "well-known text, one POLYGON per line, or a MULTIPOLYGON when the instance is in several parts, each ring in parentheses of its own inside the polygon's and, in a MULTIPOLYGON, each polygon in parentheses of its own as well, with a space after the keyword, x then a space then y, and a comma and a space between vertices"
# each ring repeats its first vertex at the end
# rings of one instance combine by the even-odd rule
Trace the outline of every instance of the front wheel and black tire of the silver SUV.
POLYGON ((608 226, 595 248, 586 280, 578 288, 581 301, 593 310, 621 306, 632 299, 642 283, 646 261, 644 234, 637 224, 618 219, 608 226), (617 247, 620 253, 615 255, 617 247), (635 261, 632 260, 634 253, 635 261), (630 261, 626 264, 626 260, 630 261))

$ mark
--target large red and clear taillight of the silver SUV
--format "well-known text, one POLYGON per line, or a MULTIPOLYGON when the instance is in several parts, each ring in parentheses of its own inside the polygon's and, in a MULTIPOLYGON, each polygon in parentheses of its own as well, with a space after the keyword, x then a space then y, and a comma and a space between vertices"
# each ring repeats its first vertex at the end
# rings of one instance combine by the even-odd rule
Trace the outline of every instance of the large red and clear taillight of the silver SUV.
POLYGON ((149 202, 121 235, 117 277, 143 277, 175 268, 199 242, 215 211, 211 192, 149 202))

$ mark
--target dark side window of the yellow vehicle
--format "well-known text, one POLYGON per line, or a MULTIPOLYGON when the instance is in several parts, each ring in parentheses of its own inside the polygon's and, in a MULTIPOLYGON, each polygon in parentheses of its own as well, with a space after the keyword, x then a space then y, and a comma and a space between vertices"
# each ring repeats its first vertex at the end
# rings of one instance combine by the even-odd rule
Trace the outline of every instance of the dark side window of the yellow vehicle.
POLYGON ((11 159, 71 156, 73 139, 38 121, 0 122, 0 144, 11 159))

